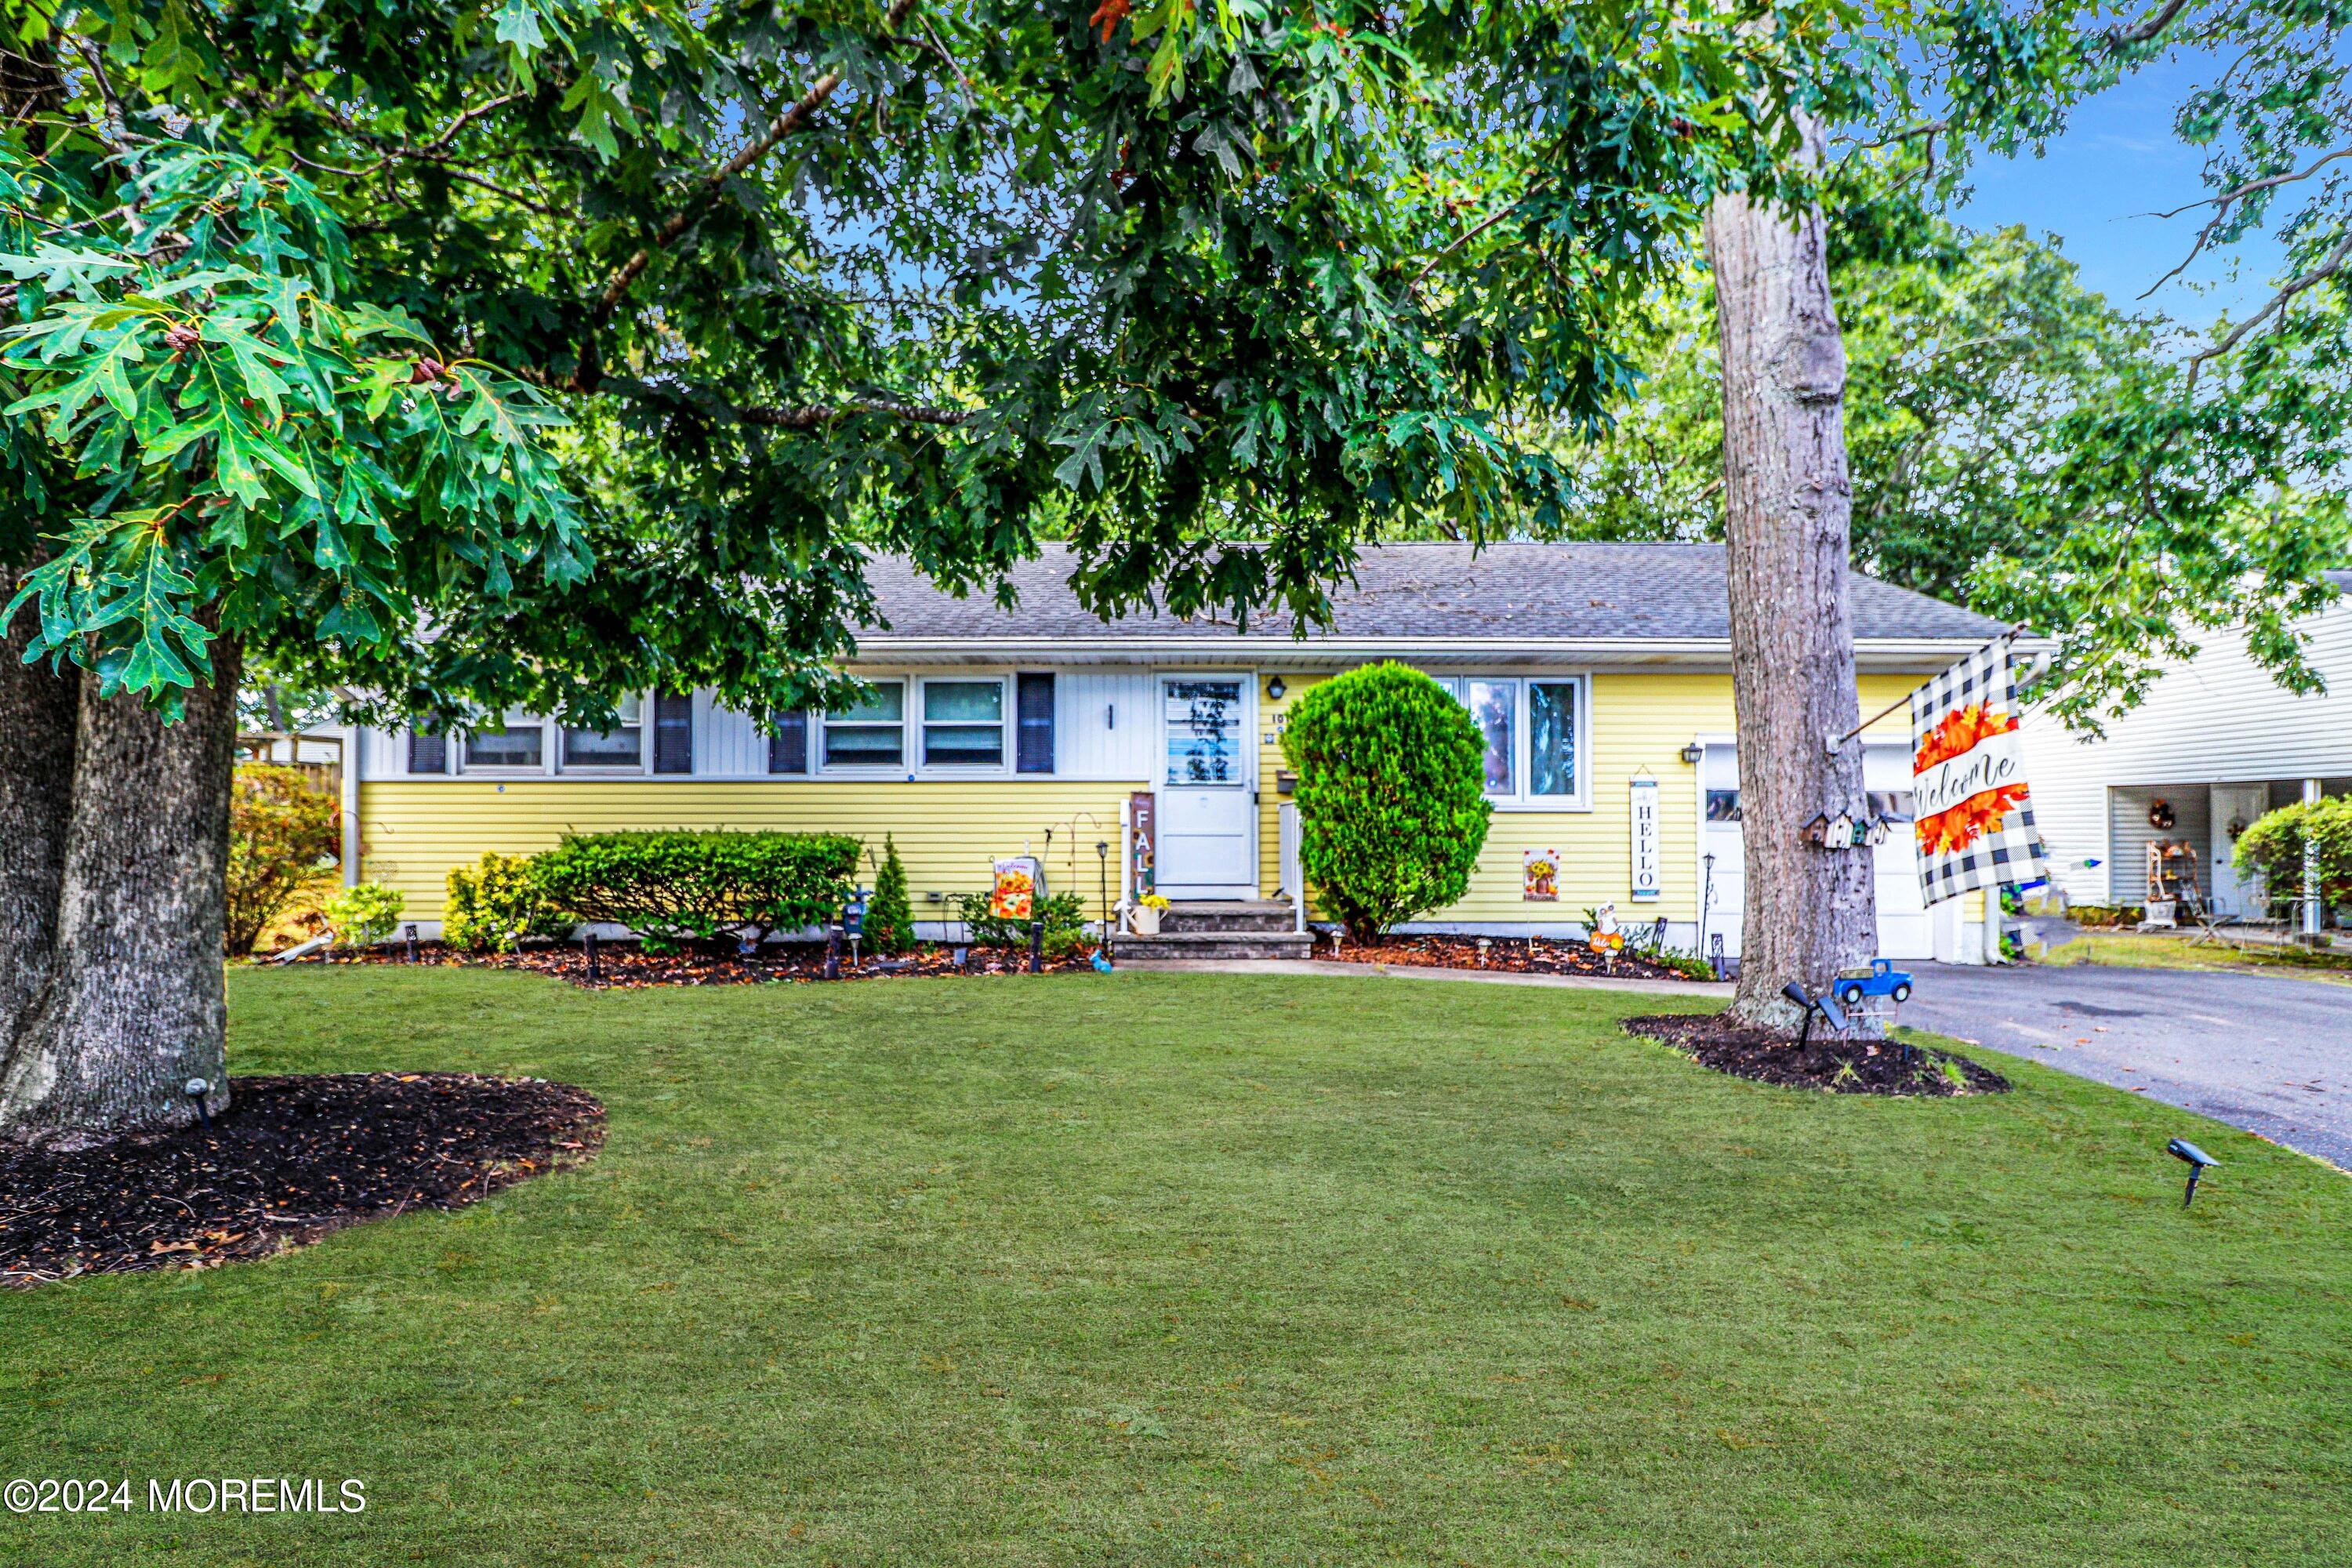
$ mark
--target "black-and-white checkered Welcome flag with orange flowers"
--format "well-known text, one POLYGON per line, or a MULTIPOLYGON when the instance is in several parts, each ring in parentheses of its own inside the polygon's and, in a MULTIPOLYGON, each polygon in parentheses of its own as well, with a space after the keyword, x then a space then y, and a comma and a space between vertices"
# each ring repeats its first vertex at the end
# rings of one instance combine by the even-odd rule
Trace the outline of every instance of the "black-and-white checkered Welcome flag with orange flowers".
POLYGON ((1929 903, 2044 875, 2006 637, 1912 691, 1912 809, 1929 903))

